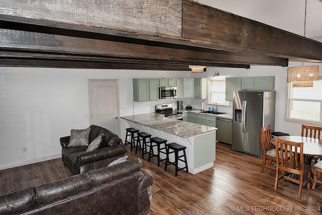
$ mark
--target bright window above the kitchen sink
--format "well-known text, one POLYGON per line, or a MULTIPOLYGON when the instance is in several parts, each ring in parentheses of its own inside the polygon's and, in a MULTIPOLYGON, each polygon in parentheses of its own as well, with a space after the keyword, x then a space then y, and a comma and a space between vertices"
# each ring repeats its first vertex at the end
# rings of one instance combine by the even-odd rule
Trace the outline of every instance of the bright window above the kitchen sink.
POLYGON ((226 97, 226 81, 208 79, 208 103, 217 102, 220 105, 229 105, 226 97))

